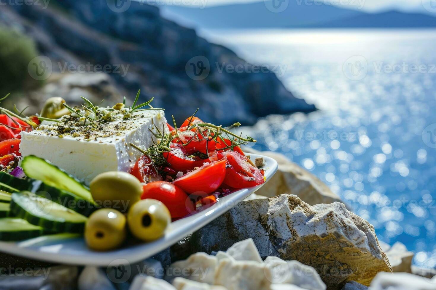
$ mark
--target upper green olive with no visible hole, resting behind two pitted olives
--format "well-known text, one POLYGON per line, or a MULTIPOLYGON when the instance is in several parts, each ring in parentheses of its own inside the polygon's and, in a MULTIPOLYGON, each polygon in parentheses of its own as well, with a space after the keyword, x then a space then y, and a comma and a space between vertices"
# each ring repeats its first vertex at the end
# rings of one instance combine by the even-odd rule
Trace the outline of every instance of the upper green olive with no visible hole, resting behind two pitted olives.
POLYGON ((132 174, 109 171, 97 175, 90 184, 92 198, 102 205, 126 212, 141 198, 142 186, 132 174))

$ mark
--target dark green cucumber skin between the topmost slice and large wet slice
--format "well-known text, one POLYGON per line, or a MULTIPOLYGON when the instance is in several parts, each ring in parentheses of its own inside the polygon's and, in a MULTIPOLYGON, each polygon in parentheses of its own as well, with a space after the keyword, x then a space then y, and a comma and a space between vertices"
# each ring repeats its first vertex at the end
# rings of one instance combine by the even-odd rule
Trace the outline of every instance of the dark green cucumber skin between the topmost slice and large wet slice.
POLYGON ((56 187, 51 187, 45 183, 41 183, 36 187, 35 193, 40 197, 48 198, 64 207, 74 210, 77 213, 89 217, 98 208, 95 203, 91 203, 88 200, 84 200, 78 197, 74 193, 66 190, 61 190, 56 187))

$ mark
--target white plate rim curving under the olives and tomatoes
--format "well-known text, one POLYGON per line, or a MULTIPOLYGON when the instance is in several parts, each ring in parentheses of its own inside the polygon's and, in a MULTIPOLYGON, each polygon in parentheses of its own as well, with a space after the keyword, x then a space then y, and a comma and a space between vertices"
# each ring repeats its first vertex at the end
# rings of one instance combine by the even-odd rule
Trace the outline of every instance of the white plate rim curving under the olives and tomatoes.
MULTIPOLYGON (((250 154, 251 159, 263 157, 266 166, 265 177, 268 181, 277 171, 276 160, 250 154)), ((265 183, 263 183, 265 184, 265 183)), ((262 185, 263 185, 262 184, 262 185)), ((94 252, 86 247, 83 237, 71 235, 50 235, 24 240, 20 242, 0 242, 0 250, 28 259, 73 265, 108 266, 114 260, 117 263, 137 263, 170 247, 194 231, 204 227, 240 201, 258 190, 262 185, 244 188, 219 198, 211 207, 191 216, 176 220, 170 224, 165 236, 151 243, 136 244, 110 252, 94 252), (120 260, 123 261, 120 261, 120 260)))

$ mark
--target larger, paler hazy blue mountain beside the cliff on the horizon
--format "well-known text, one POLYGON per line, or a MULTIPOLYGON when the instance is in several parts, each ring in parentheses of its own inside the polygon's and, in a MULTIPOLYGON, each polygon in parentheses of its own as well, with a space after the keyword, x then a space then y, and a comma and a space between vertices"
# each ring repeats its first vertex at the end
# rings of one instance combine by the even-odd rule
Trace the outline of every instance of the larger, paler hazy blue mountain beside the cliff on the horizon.
POLYGON ((304 5, 304 0, 290 0, 280 13, 267 9, 265 2, 232 4, 204 9, 184 6, 162 7, 162 15, 188 26, 202 28, 281 28, 307 27, 316 23, 364 15, 357 10, 318 3, 304 5), (303 4, 301 4, 303 3, 303 4))

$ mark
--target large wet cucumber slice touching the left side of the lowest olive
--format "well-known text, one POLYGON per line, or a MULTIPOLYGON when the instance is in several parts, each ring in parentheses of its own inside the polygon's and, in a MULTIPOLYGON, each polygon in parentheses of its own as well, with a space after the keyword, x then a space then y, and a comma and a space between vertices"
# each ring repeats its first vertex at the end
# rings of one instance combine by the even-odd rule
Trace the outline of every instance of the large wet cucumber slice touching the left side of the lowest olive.
POLYGON ((10 214, 56 233, 83 233, 87 218, 28 191, 12 193, 10 214))

